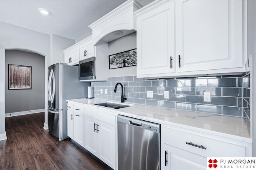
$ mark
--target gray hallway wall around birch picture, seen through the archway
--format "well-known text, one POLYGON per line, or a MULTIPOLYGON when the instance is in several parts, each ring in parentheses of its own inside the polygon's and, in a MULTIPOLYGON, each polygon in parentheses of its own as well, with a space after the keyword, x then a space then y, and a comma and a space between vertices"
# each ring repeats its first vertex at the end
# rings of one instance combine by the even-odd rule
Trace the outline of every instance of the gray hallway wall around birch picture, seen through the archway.
POLYGON ((44 56, 6 50, 5 74, 5 113, 44 109, 44 56), (32 66, 32 89, 8 90, 8 64, 32 66))

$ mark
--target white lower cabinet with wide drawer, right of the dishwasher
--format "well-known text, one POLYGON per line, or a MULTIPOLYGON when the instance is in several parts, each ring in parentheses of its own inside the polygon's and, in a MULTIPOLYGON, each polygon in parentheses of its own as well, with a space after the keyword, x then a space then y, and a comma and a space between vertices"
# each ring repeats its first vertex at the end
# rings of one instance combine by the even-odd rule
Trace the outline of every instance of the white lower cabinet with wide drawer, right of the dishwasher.
POLYGON ((250 157, 250 143, 161 125, 161 169, 204 170, 207 157, 250 157))

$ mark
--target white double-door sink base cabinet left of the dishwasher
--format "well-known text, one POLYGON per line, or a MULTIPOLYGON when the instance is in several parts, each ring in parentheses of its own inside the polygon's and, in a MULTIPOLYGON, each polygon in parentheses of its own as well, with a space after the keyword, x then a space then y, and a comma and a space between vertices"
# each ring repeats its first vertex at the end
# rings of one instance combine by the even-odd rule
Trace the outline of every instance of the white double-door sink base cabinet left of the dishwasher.
POLYGON ((113 115, 90 108, 85 108, 85 115, 84 148, 111 168, 116 169, 116 126, 109 124, 115 122, 116 116, 113 117, 113 121, 105 120, 108 122, 106 123, 103 122, 102 117, 109 118, 113 115), (89 117, 90 115, 94 118, 89 117))

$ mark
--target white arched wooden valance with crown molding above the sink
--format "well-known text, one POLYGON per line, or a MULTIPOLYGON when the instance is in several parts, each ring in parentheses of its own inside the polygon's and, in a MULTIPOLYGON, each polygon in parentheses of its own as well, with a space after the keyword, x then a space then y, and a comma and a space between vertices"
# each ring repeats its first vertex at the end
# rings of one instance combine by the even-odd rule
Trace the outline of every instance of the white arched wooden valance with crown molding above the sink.
POLYGON ((134 11, 140 8, 142 8, 140 2, 128 0, 89 25, 92 29, 93 45, 96 45, 100 40, 109 42, 134 32, 134 11), (116 30, 122 30, 123 34, 113 35, 112 32, 116 30))

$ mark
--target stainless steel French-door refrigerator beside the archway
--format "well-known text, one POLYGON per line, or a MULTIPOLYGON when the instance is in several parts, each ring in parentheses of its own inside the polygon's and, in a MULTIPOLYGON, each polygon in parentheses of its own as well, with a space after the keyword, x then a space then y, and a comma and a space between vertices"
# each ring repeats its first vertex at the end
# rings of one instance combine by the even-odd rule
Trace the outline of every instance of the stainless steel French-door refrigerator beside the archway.
POLYGON ((80 82, 79 66, 56 63, 48 67, 48 126, 59 141, 67 135, 67 99, 86 98, 90 82, 80 82))

